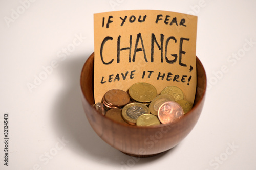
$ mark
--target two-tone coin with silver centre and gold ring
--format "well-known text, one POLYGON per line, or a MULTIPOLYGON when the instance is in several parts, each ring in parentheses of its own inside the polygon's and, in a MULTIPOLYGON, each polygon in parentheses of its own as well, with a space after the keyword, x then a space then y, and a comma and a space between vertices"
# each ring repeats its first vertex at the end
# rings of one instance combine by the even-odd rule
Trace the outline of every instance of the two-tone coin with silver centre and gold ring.
POLYGON ((137 118, 142 114, 149 114, 150 110, 142 103, 129 103, 122 109, 122 117, 125 122, 135 125, 137 118))

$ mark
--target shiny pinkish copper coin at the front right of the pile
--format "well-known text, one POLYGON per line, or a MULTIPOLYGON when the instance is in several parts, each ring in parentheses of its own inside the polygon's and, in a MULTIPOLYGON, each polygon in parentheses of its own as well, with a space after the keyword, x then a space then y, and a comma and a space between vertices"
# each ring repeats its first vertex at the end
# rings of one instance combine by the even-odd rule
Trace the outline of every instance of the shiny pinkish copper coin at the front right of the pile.
POLYGON ((163 103, 158 110, 158 118, 162 124, 174 123, 183 115, 182 107, 174 101, 163 103))

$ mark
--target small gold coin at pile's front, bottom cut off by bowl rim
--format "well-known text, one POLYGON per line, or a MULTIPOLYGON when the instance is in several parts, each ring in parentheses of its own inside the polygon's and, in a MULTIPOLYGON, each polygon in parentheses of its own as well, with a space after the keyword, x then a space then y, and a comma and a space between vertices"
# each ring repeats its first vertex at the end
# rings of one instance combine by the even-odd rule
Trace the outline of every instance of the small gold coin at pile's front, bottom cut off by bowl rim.
POLYGON ((152 125, 160 125, 160 121, 157 116, 152 114, 142 114, 137 118, 136 121, 137 126, 152 126, 152 125))

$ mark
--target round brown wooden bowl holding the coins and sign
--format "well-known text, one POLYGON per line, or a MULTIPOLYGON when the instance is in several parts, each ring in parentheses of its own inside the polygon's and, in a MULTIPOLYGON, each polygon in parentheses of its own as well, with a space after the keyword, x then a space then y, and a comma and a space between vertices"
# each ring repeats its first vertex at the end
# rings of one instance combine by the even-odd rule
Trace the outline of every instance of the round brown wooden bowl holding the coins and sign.
POLYGON ((93 53, 84 64, 80 78, 82 104, 89 123, 106 143, 131 156, 149 157, 175 147, 194 128, 204 105, 206 74, 198 58, 196 63, 197 91, 193 108, 174 124, 137 127, 114 122, 92 107, 94 104, 93 53))

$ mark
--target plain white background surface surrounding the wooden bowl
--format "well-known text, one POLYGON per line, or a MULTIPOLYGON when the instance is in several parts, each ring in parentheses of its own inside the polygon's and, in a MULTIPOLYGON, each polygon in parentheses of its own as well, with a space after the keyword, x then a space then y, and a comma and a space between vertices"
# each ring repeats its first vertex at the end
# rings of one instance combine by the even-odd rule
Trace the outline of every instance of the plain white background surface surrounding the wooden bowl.
POLYGON ((26 1, 0 5, 0 169, 256 168, 256 1, 37 0, 25 3, 26 9, 21 2, 26 1), (197 56, 208 78, 193 131, 174 149, 144 159, 101 140, 80 100, 80 71, 94 51, 93 14, 132 9, 197 15, 197 56), (63 55, 76 36, 81 43, 63 55), (43 67, 52 62, 55 68, 44 75, 43 67), (29 89, 40 75, 47 77, 29 89), (9 113, 8 166, 4 113, 9 113))

